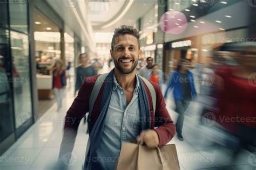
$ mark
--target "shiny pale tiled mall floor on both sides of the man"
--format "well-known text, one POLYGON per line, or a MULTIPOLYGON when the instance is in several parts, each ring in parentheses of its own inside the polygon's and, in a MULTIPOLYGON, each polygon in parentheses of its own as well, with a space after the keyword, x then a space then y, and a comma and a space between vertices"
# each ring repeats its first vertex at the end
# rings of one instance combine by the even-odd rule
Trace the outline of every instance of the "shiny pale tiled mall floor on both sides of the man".
MULTIPOLYGON (((66 110, 73 101, 72 88, 66 89, 63 108, 57 112, 54 104, 31 128, 26 131, 17 142, 6 151, 0 160, 2 169, 53 169, 55 165, 66 110)), ((167 100, 167 109, 174 122, 178 114, 172 109, 171 97, 167 100)), ((205 138, 205 133, 198 124, 196 111, 200 108, 198 103, 192 102, 185 117, 183 136, 179 141, 175 136, 169 144, 176 144, 181 169, 256 169, 256 158, 250 152, 243 151, 237 160, 233 161, 231 151, 227 148, 213 144, 205 138)), ((85 149, 88 135, 86 125, 80 123, 79 131, 73 149, 74 158, 70 169, 82 169, 85 159, 85 149)))

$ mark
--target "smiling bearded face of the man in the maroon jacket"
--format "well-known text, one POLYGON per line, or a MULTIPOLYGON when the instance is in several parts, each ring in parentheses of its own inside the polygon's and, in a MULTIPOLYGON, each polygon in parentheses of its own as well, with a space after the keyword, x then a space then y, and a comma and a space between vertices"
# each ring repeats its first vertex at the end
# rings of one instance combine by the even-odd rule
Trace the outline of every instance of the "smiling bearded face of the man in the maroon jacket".
POLYGON ((113 51, 110 54, 114 61, 114 66, 122 74, 136 72, 139 56, 142 51, 139 49, 138 40, 135 36, 124 34, 118 36, 114 41, 113 51))

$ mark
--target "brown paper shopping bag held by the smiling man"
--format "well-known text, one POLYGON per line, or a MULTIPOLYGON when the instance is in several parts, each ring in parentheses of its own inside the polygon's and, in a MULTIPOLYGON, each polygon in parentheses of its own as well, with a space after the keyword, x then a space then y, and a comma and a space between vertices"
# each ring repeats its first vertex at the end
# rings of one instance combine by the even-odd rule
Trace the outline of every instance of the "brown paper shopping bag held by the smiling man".
POLYGON ((117 170, 179 170, 179 160, 174 144, 157 148, 123 143, 117 170))

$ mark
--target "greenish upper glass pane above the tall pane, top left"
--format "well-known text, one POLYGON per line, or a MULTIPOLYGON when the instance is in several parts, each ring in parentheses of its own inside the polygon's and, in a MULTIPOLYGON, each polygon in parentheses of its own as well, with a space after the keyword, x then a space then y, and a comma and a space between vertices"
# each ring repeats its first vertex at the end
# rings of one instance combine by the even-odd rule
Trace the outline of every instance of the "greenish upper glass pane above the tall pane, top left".
POLYGON ((10 28, 28 33, 28 1, 15 0, 9 2, 10 28))

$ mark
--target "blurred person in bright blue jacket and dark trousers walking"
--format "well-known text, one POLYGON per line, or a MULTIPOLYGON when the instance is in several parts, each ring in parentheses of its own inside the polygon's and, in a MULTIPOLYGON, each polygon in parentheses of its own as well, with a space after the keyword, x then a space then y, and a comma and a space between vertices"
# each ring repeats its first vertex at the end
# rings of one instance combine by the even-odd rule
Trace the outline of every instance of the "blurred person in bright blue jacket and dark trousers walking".
POLYGON ((173 97, 176 104, 176 112, 179 114, 176 123, 176 131, 178 139, 183 141, 182 128, 184 123, 184 114, 190 104, 190 101, 197 96, 194 88, 194 80, 190 68, 190 60, 181 59, 178 63, 177 70, 173 72, 166 91, 165 99, 167 98, 169 89, 173 89, 173 97))

